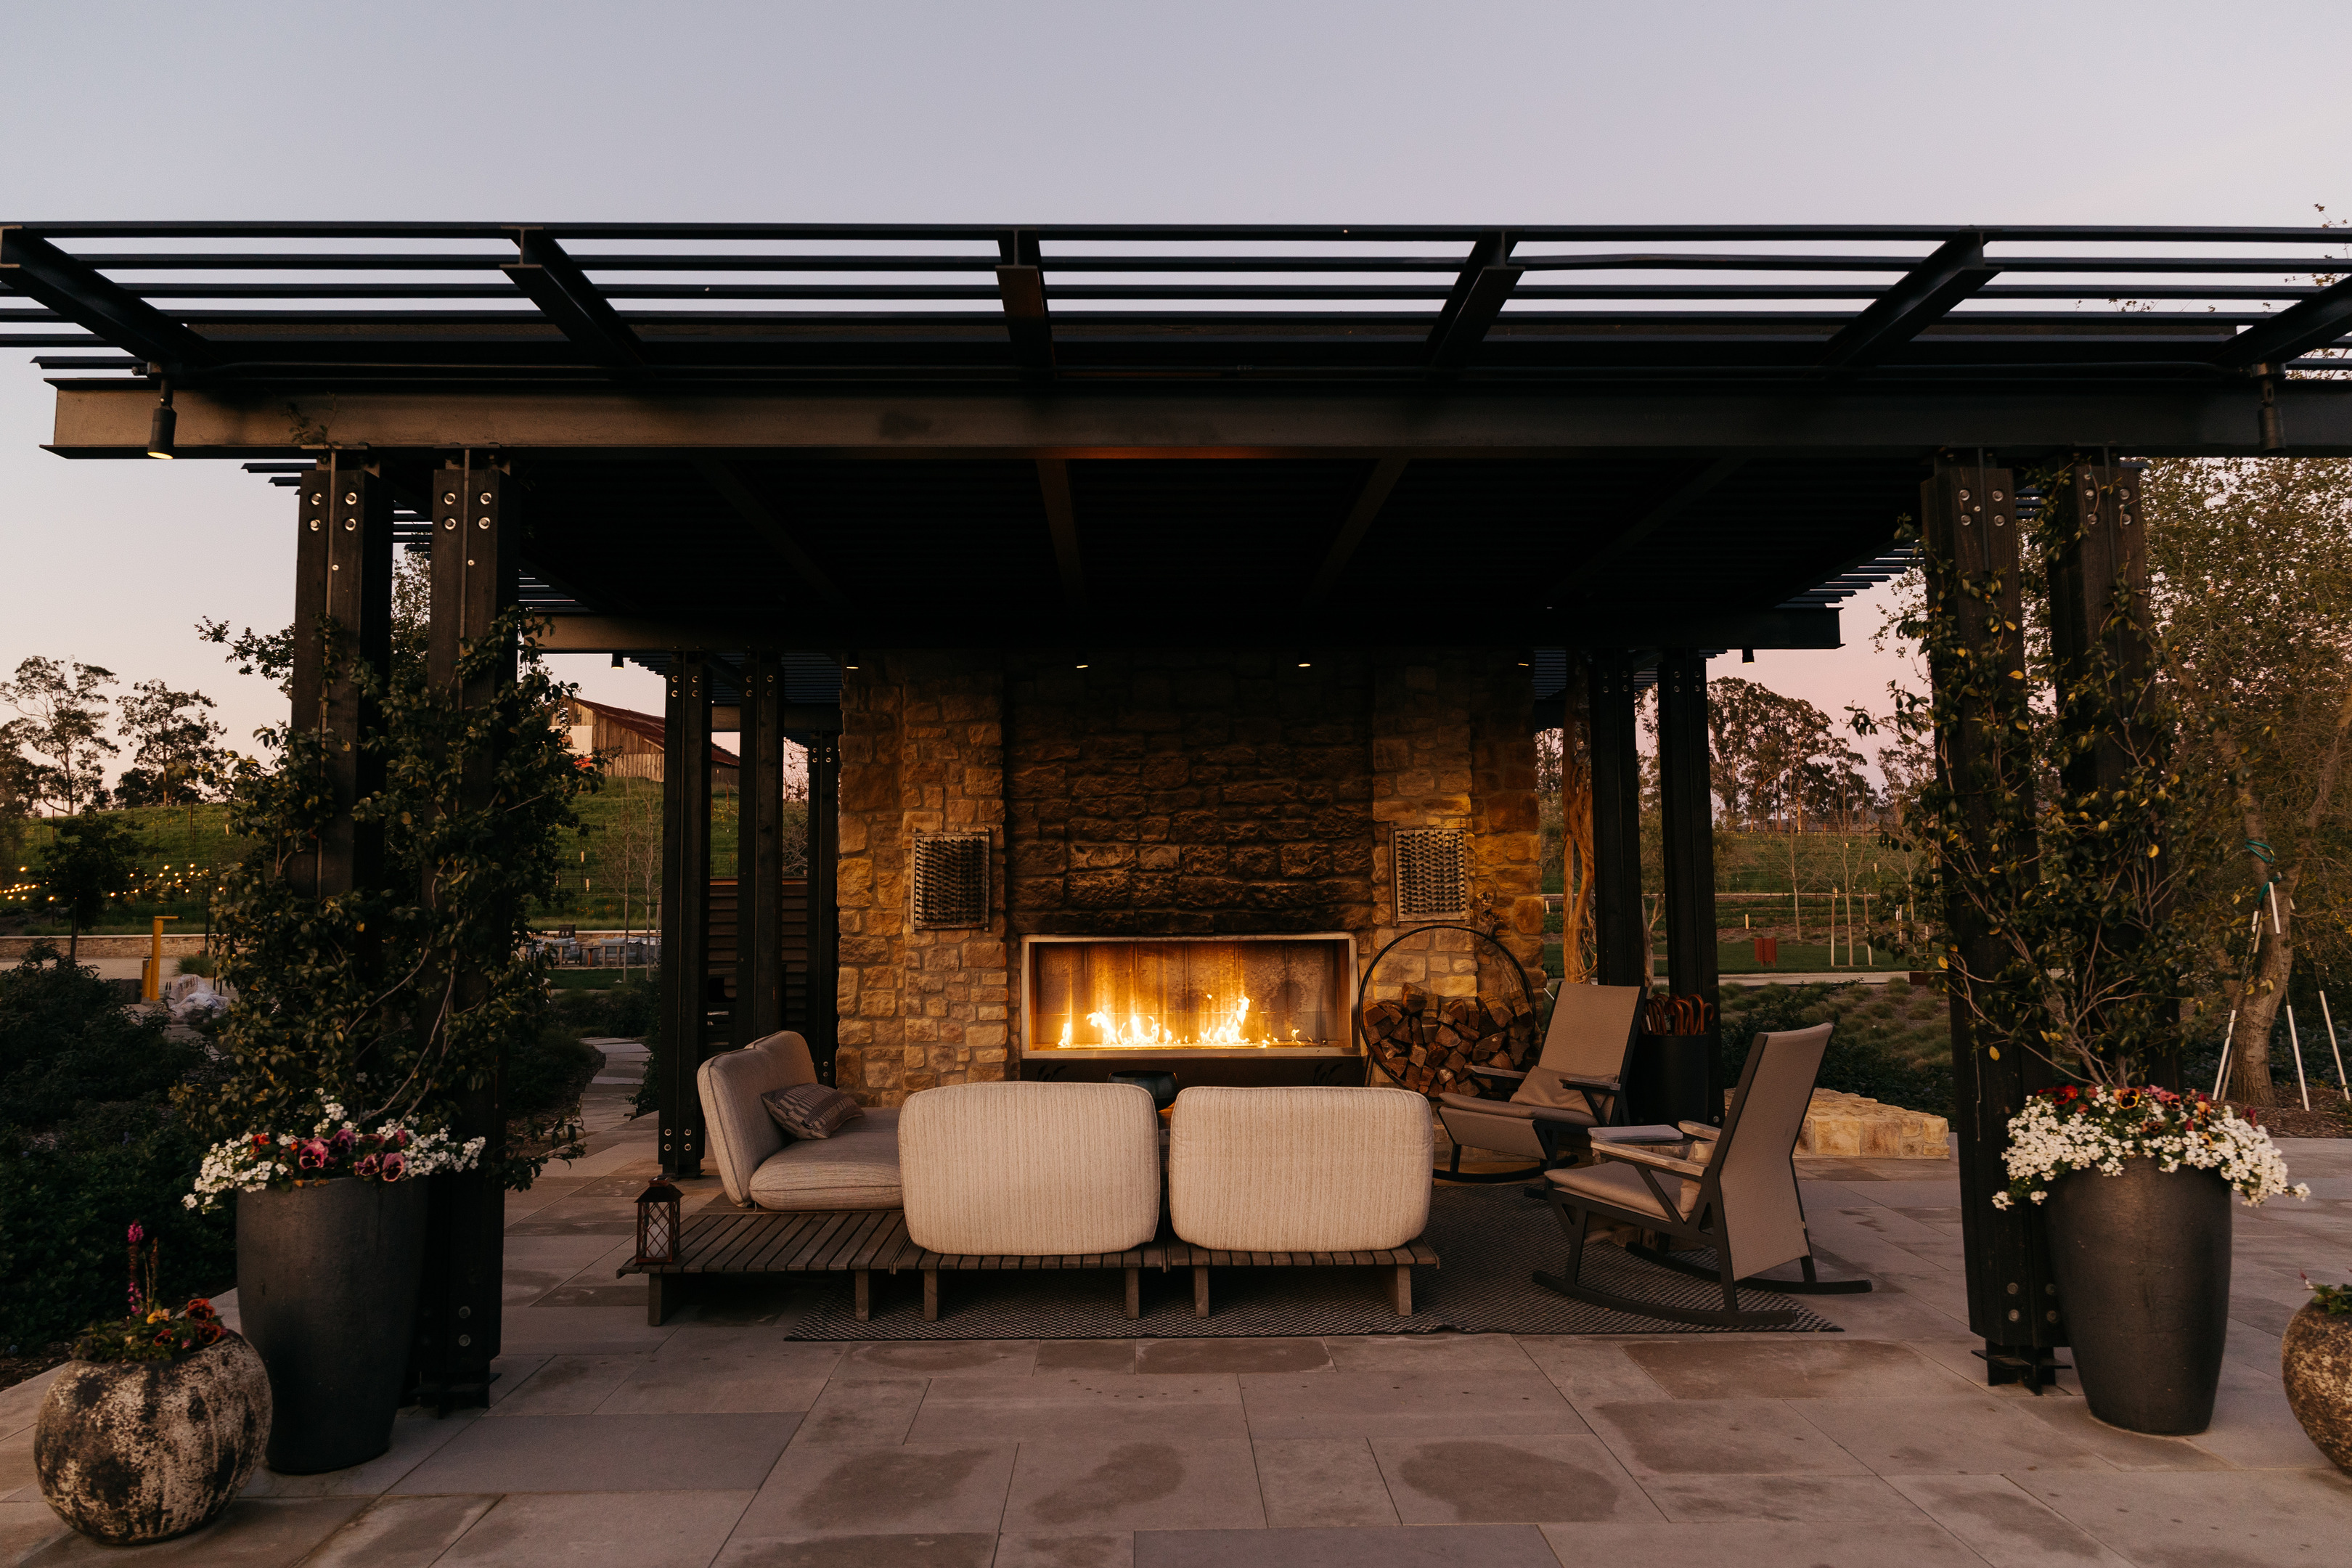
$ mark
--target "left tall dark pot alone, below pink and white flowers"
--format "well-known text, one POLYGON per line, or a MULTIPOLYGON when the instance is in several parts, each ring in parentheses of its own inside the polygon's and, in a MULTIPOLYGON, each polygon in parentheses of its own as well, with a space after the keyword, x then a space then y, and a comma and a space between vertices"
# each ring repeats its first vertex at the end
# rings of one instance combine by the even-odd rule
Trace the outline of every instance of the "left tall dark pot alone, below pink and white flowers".
POLYGON ((393 1446, 423 1253, 421 1180, 238 1194, 238 1319, 270 1371, 270 1469, 308 1476, 393 1446))

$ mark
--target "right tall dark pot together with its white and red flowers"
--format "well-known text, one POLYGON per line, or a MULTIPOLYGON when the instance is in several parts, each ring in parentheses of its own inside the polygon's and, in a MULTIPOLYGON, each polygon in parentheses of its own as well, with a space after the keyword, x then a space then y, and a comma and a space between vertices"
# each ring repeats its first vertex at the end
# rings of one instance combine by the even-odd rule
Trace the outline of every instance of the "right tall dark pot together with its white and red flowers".
POLYGON ((2009 1121, 2009 1190, 2044 1208, 2091 1415, 2204 1432, 2230 1331, 2230 1192, 2310 1197, 2270 1133, 2201 1093, 2044 1088, 2009 1121))

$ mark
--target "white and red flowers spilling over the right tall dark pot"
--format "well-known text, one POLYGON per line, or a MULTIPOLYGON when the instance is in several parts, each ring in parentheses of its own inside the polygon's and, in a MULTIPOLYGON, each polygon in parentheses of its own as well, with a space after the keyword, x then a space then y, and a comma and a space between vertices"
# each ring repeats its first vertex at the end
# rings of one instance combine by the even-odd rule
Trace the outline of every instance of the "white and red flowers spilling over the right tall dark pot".
POLYGON ((2204 1093, 2169 1088, 2044 1088, 2009 1119, 2004 1159, 2009 1192, 1992 1194, 1994 1208, 2018 1199, 2039 1204, 2049 1182, 2072 1171, 2122 1175, 2126 1159, 2154 1159, 2161 1171, 2213 1171, 2249 1208, 2281 1194, 2312 1197, 2310 1187, 2286 1185, 2286 1161, 2270 1133, 2204 1093))

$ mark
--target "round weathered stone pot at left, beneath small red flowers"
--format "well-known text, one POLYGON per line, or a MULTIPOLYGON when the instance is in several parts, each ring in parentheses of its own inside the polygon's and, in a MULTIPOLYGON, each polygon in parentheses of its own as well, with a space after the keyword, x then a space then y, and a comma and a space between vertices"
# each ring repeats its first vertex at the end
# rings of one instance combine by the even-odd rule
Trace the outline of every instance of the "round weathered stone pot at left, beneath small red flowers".
POLYGON ((33 1427, 56 1516, 111 1547, 212 1523, 254 1476, 270 1378, 230 1333, 179 1361, 68 1361, 33 1427))

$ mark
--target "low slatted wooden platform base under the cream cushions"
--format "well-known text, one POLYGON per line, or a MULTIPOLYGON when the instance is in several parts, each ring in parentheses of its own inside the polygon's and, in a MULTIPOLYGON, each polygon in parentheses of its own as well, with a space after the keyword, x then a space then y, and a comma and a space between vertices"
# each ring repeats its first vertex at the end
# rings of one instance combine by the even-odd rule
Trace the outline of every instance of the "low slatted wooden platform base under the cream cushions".
POLYGON ((1192 1314, 1209 1316, 1209 1269, 1395 1269, 1388 1281, 1397 1316, 1414 1314, 1414 1267, 1437 1267, 1425 1241, 1371 1253, 1228 1253, 1190 1241, 1150 1241, 1124 1253, 971 1255, 931 1253, 906 1234, 906 1211, 771 1213, 720 1208, 687 1215, 677 1262, 623 1262, 619 1274, 644 1274, 644 1321, 656 1328, 684 1302, 691 1281, 710 1274, 849 1274, 858 1321, 873 1312, 873 1274, 920 1272, 922 1319, 938 1321, 938 1276, 967 1272, 1120 1269, 1127 1316, 1143 1314, 1143 1269, 1192 1269, 1192 1314))

